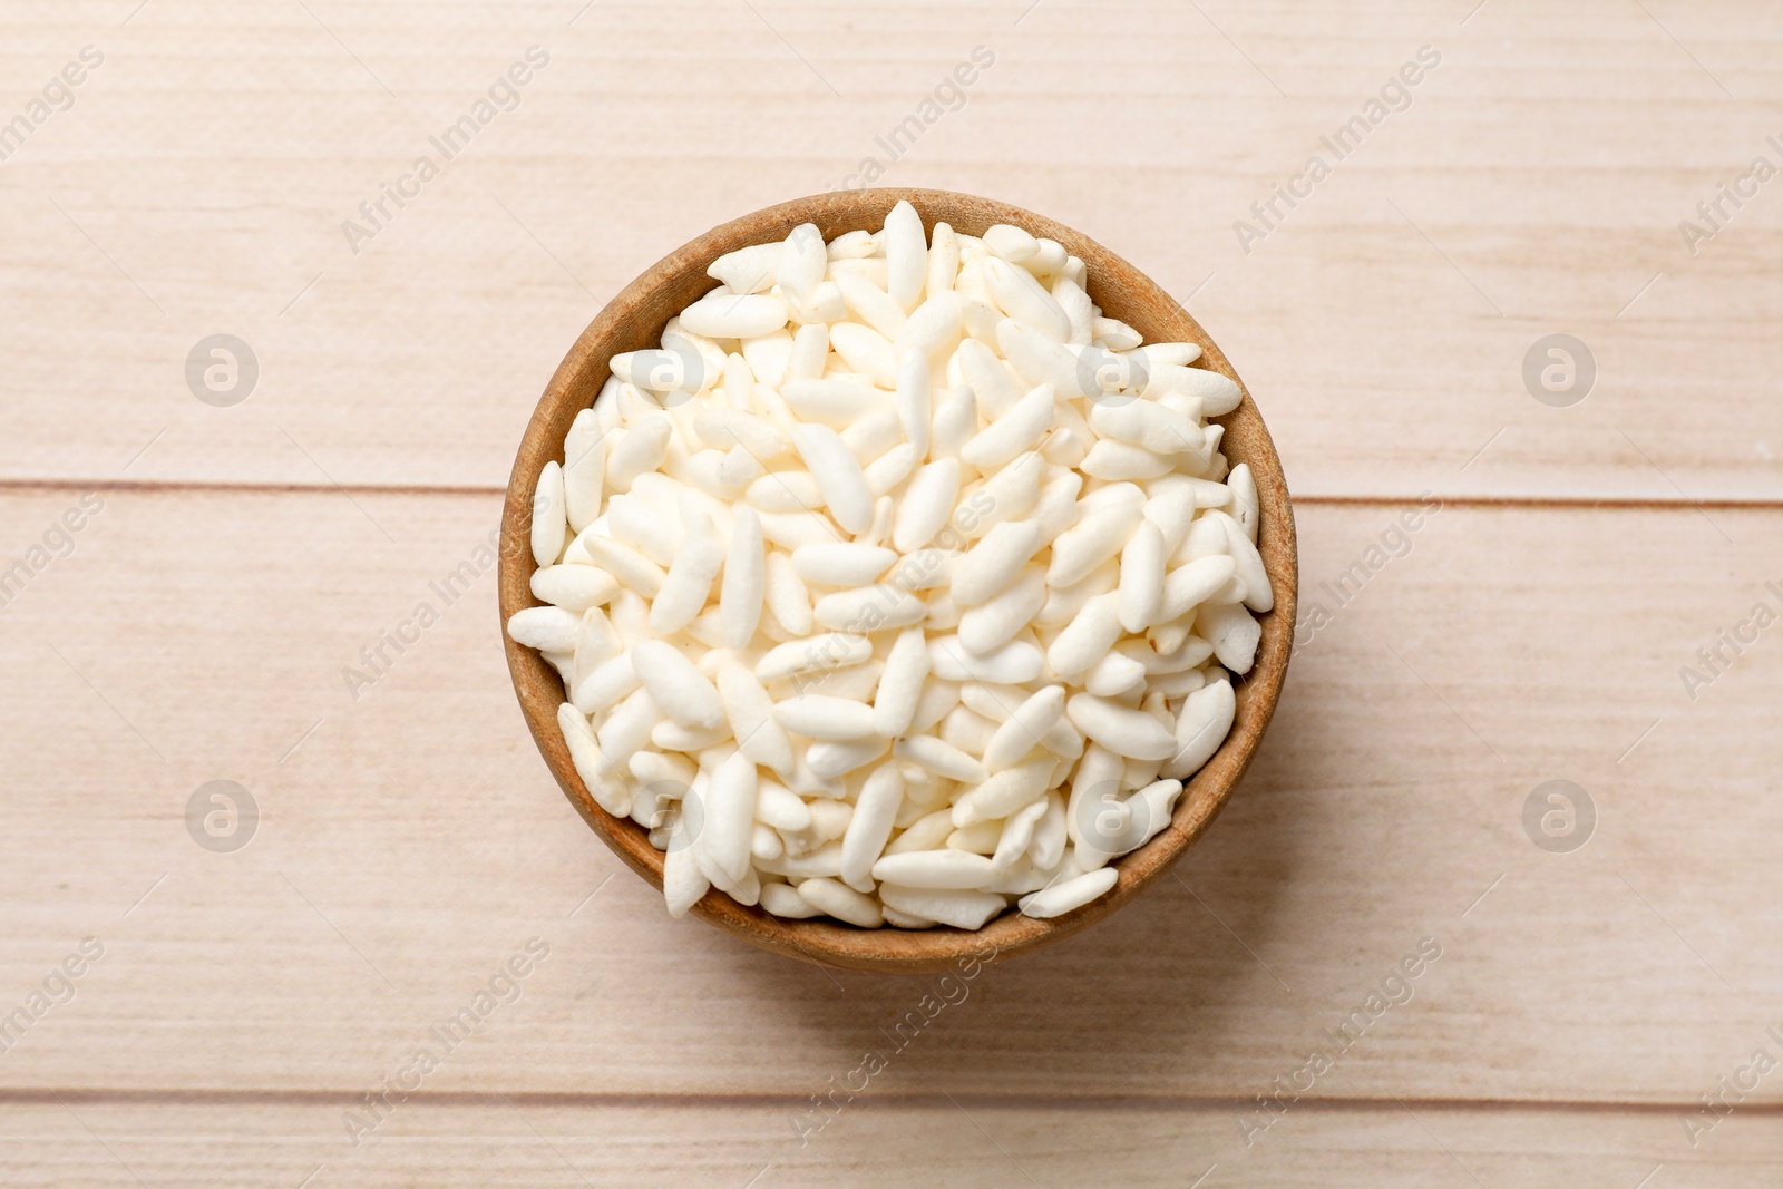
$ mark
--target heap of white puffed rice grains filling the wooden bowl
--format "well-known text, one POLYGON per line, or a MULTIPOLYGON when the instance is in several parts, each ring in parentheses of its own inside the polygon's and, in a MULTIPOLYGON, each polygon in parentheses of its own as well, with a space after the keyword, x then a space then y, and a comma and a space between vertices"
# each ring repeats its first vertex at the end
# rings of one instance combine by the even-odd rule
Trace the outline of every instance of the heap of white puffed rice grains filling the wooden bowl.
POLYGON ((1170 824, 1273 606, 1239 389, 909 203, 708 269, 538 476, 508 620, 674 916, 1059 916, 1170 824))

